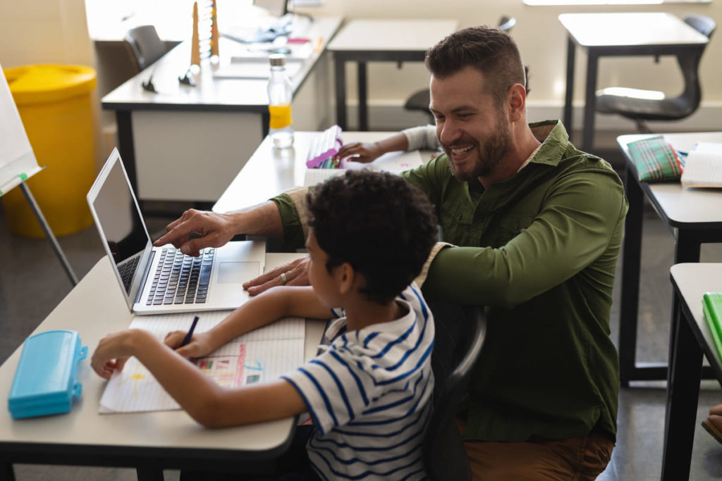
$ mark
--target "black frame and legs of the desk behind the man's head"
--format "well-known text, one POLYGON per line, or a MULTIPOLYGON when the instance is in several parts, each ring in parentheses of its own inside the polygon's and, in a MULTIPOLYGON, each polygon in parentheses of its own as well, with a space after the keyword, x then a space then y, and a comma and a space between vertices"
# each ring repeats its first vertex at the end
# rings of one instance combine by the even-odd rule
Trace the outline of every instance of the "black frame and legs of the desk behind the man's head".
POLYGON ((358 130, 368 131, 367 62, 423 62, 426 51, 420 50, 332 50, 334 53, 334 84, 336 85, 336 123, 347 130, 346 63, 358 65, 359 124, 358 130))

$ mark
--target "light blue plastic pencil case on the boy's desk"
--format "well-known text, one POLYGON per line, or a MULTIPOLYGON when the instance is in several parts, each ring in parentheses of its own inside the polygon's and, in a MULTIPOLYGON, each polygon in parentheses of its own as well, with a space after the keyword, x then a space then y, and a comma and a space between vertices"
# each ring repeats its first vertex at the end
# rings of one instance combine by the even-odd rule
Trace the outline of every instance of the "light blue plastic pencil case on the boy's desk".
POLYGON ((41 332, 25 340, 7 400, 14 419, 69 412, 80 397, 78 363, 87 356, 77 332, 41 332))

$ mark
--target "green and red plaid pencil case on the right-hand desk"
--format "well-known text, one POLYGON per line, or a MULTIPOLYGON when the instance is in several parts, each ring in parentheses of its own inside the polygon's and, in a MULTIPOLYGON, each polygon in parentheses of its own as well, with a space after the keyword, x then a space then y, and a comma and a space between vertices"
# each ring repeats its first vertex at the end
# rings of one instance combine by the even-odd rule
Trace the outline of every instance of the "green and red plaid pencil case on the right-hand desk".
POLYGON ((682 175, 677 153, 662 136, 630 142, 627 148, 643 182, 679 180, 682 175))

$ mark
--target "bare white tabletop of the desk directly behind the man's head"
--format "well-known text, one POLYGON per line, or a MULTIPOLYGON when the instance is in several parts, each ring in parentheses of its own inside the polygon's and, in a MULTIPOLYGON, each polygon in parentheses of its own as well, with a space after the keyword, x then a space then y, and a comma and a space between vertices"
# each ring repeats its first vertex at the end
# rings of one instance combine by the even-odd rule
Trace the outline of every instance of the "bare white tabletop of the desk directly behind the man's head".
POLYGON ((329 43, 329 50, 420 50, 454 32, 453 19, 355 19, 329 43))

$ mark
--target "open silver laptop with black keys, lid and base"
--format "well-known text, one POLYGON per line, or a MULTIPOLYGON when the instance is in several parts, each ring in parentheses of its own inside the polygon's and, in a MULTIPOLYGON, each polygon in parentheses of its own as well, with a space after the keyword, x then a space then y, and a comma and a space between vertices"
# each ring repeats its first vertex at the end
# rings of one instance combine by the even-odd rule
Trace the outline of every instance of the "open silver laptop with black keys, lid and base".
POLYGON ((261 275, 266 243, 229 242, 200 257, 168 244, 153 247, 118 149, 90 188, 88 205, 123 296, 135 314, 235 309, 241 284, 261 275))

